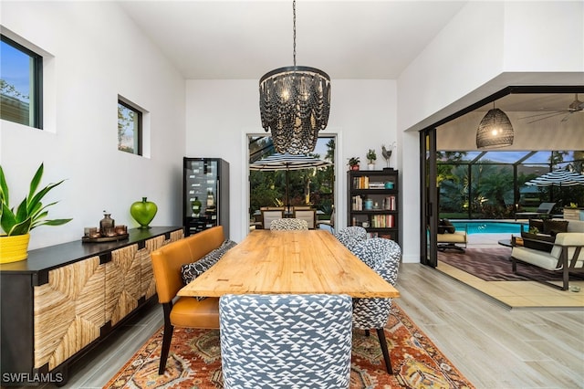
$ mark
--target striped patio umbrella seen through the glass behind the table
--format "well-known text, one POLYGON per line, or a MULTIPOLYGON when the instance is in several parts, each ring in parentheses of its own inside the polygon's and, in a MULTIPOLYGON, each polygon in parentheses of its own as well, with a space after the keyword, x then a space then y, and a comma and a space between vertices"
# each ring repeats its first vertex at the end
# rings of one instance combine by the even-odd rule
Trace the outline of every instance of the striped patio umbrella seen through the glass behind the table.
POLYGON ((257 170, 260 172, 275 172, 277 170, 286 171, 286 204, 287 209, 290 209, 289 198, 288 198, 288 172, 290 170, 302 170, 310 169, 315 167, 325 167, 331 165, 328 161, 319 160, 304 154, 289 154, 289 153, 279 153, 276 152, 272 155, 262 158, 261 160, 255 161, 255 163, 250 163, 249 168, 251 170, 257 170))

